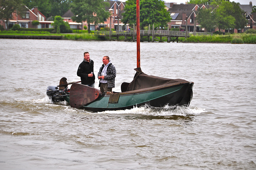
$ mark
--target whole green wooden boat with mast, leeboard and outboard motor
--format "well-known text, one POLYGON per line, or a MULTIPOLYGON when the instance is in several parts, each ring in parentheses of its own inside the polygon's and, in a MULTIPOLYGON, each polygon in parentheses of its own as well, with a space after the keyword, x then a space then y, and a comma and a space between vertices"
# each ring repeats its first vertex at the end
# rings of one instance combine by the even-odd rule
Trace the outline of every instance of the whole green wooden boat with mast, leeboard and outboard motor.
POLYGON ((99 89, 86 85, 67 83, 66 78, 60 80, 59 87, 47 87, 47 95, 53 101, 66 101, 71 107, 99 112, 107 110, 131 109, 134 106, 150 105, 163 107, 165 105, 189 106, 193 97, 193 82, 183 79, 166 79, 146 75, 140 69, 140 3, 137 0, 137 68, 131 83, 122 83, 120 93, 102 95, 99 89), (72 84, 70 90, 68 84, 72 84), (64 89, 63 89, 64 88, 64 89))

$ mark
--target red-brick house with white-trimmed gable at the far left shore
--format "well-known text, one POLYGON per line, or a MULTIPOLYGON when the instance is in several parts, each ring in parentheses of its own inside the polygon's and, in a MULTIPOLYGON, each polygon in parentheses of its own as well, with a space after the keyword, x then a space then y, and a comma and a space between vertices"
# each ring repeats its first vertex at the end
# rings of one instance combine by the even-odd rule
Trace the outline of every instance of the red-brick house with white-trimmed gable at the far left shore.
MULTIPOLYGON (((26 11, 22 15, 17 15, 16 12, 12 13, 12 19, 8 21, 9 28, 14 24, 19 24, 21 28, 53 28, 52 21, 46 21, 44 14, 38 11, 38 8, 32 8, 31 10, 25 6, 26 11), (33 26, 32 21, 39 21, 38 26, 33 26)), ((6 21, 1 20, 0 24, 6 29, 6 21)))

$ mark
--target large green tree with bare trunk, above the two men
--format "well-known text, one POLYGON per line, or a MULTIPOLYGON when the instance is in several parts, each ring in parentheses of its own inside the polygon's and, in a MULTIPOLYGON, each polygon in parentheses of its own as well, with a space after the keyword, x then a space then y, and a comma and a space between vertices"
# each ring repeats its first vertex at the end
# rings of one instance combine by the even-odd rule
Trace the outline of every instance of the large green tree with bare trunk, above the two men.
POLYGON ((106 6, 110 4, 104 0, 74 0, 71 4, 71 11, 74 14, 72 20, 77 23, 87 21, 88 33, 90 33, 90 23, 102 23, 110 16, 105 10, 106 6))

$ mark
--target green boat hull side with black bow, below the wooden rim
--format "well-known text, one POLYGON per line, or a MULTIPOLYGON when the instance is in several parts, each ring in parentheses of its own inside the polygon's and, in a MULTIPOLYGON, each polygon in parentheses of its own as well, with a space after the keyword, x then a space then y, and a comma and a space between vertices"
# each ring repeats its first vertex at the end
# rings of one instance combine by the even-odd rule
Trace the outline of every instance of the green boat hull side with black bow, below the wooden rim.
MULTIPOLYGON (((83 105, 80 109, 92 112, 108 110, 132 109, 134 106, 150 105, 152 107, 163 107, 165 105, 189 106, 192 100, 194 83, 186 82, 166 87, 155 87, 144 90, 135 90, 111 95, 100 96, 97 100, 83 105), (115 97, 116 96, 116 97, 115 97), (115 98, 114 101, 111 98, 115 98)), ((69 101, 69 96, 65 97, 69 101)))

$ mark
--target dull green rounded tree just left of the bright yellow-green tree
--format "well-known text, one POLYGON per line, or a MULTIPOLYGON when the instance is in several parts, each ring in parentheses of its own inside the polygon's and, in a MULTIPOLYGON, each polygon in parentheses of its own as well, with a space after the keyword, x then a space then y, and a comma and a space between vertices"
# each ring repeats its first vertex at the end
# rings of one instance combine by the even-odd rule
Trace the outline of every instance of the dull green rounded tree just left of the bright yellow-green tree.
POLYGON ((216 26, 215 13, 212 8, 201 8, 198 9, 198 15, 196 21, 201 25, 202 28, 206 28, 207 31, 216 26))

